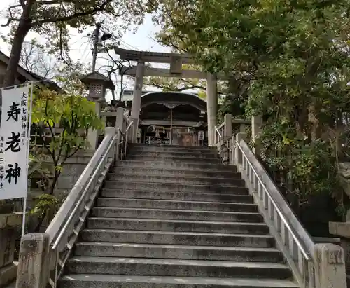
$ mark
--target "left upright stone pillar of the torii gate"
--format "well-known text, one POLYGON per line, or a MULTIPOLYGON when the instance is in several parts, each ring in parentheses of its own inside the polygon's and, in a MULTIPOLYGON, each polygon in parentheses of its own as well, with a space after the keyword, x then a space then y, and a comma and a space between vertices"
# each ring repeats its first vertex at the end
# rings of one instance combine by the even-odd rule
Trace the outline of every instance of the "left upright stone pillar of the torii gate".
POLYGON ((144 62, 137 63, 134 98, 132 100, 131 120, 134 121, 134 136, 133 139, 137 139, 137 128, 139 128, 139 117, 141 109, 141 96, 142 87, 144 85, 144 62))

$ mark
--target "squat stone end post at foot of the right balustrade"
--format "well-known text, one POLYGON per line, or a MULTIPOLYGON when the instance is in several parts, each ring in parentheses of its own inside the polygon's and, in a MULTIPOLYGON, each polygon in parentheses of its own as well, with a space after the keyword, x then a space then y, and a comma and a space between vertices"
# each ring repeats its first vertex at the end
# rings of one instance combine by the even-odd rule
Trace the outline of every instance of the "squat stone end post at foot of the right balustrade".
POLYGON ((315 245, 316 288, 346 288, 344 250, 330 243, 315 245))

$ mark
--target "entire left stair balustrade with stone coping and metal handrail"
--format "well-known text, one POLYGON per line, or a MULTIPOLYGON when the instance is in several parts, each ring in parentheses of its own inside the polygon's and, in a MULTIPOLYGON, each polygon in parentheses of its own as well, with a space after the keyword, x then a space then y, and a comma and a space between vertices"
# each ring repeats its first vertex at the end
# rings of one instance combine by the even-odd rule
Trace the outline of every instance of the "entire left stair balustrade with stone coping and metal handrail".
POLYGON ((50 259, 55 260, 48 266, 50 287, 57 287, 57 280, 64 273, 64 266, 69 259, 78 233, 83 228, 94 198, 102 186, 106 172, 113 165, 119 132, 115 135, 113 129, 112 131, 113 133, 110 132, 104 137, 71 193, 45 231, 50 236, 50 259))

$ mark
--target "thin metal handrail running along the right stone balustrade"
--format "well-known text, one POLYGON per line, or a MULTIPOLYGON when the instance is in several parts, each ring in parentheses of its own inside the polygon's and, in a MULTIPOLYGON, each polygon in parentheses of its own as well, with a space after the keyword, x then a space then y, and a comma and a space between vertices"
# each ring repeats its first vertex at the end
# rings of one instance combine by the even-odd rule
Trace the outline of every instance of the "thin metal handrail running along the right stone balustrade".
MULTIPOLYGON (((307 261, 311 260, 311 252, 307 252, 306 249, 303 247, 302 243, 300 242, 299 238, 297 237, 297 235, 295 235, 295 233, 293 232, 293 229, 291 228, 290 224, 288 223, 286 217, 284 217, 283 213, 281 212, 279 206, 277 205, 277 203, 274 201, 274 199, 272 198, 271 193, 269 193, 269 190, 267 189, 267 187, 265 186, 264 182, 262 181, 261 177, 259 176, 258 172, 255 170, 255 168, 253 167, 253 164, 251 163, 251 161, 248 159, 246 153, 244 152, 244 150, 242 149, 241 145, 239 144, 239 142, 236 141, 237 147, 239 148, 239 150, 241 151, 241 153, 244 155, 244 158, 246 158, 246 161, 248 162, 249 166, 251 167, 251 170, 253 170, 255 177, 258 179, 258 181, 260 182, 260 185, 262 186, 262 188, 265 189, 267 196, 269 196, 269 199, 271 200, 272 205, 274 205, 274 208, 276 209, 276 212, 279 214, 279 217, 281 217, 281 221, 283 221, 283 224, 286 226, 286 228, 288 229, 288 231, 290 231, 291 236, 294 238, 295 240, 295 244, 297 245, 297 247, 299 247, 300 252, 302 252, 302 254, 304 255, 305 259, 307 261)), ((303 229, 304 230, 304 229, 303 229)), ((306 231, 305 234, 307 235, 306 231)), ((314 245, 314 241, 311 240, 311 238, 309 238, 309 242, 311 242, 314 245)), ((307 246, 305 244, 305 246, 307 246)), ((311 247, 308 247, 309 250, 311 250, 311 247)))

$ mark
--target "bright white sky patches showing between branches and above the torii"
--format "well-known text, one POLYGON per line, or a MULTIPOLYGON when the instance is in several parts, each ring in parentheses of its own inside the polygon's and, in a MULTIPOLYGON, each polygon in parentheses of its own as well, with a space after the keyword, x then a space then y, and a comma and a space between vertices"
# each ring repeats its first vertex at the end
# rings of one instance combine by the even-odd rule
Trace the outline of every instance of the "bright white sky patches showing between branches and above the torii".
MULTIPOLYGON (((1 7, 8 7, 10 4, 13 4, 15 0, 1 0, 1 7)), ((6 23, 6 18, 4 17, 4 11, 0 13, 0 24, 6 23)), ((146 50, 154 52, 169 52, 170 48, 160 46, 154 39, 155 32, 158 32, 159 27, 153 25, 151 15, 146 15, 145 21, 142 25, 139 26, 137 32, 128 31, 123 35, 123 38, 120 39, 120 47, 130 50, 146 50)), ((1 34, 8 33, 7 27, 0 27, 1 34)), ((78 34, 77 31, 71 30, 71 58, 73 61, 80 60, 81 62, 91 63, 92 61, 92 52, 91 44, 88 42, 87 33, 92 31, 86 31, 83 34, 78 34)), ((40 39, 40 36, 30 33, 25 39, 25 41, 30 41, 33 38, 40 39)), ((0 50, 1 52, 9 55, 9 47, 7 43, 4 43, 0 40, 0 50)), ((113 54, 113 53, 112 53, 113 54)), ((100 54, 97 59, 97 69, 106 64, 104 58, 108 57, 106 54, 100 54)), ((163 64, 164 65, 164 64, 163 64)), ((162 67, 162 65, 154 65, 162 67)), ((114 80, 114 79, 113 79, 114 80)), ((118 79, 116 79, 118 81, 118 79)), ((116 83, 118 86, 118 83, 116 83)), ((132 88, 132 82, 127 81, 126 88, 132 88)), ((110 95, 109 95, 110 97, 110 95)))

